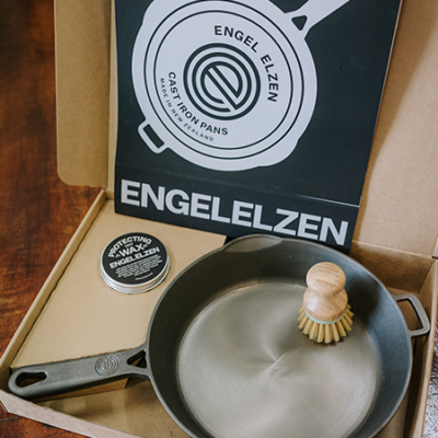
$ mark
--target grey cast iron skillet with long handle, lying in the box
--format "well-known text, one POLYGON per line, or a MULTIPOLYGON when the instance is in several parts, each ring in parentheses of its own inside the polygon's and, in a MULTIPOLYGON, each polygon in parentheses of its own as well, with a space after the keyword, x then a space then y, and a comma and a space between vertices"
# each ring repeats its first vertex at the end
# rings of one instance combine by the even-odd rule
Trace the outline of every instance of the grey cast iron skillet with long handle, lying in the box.
POLYGON ((392 296, 348 256, 311 242, 251 235, 203 256, 172 281, 143 345, 24 367, 9 388, 36 399, 139 377, 152 382, 191 437, 309 437, 321 429, 327 437, 373 437, 406 392, 412 338, 428 331, 415 296, 392 296), (351 334, 328 346, 303 336, 296 321, 306 274, 319 262, 344 269, 355 312, 351 334), (422 328, 407 328, 401 300, 411 302, 422 328), (141 356, 146 368, 132 365, 141 356), (25 385, 32 378, 38 381, 25 385))

